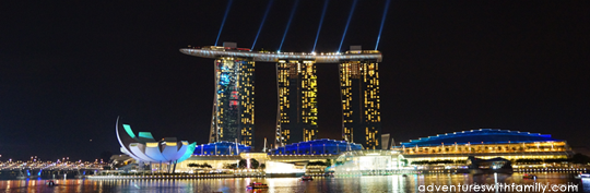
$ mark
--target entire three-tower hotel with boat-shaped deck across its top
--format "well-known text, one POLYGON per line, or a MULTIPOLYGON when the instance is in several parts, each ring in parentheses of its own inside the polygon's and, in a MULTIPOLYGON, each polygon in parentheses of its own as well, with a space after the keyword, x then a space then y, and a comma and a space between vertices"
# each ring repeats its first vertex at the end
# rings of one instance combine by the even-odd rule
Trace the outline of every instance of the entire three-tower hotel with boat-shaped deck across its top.
MULTIPOLYGON (((270 52, 223 46, 182 48, 180 52, 214 59, 215 94, 210 143, 255 143, 255 62, 276 63, 278 117, 274 146, 317 140, 318 106, 316 65, 340 64, 342 140, 381 148, 379 62, 377 50, 329 53, 270 52)), ((334 72, 335 73, 335 72, 334 72)))

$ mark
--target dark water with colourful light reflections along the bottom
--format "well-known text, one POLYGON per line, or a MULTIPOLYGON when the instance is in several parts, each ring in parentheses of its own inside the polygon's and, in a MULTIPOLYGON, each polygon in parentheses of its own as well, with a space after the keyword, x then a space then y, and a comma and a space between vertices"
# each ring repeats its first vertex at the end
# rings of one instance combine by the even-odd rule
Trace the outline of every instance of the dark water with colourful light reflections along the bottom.
MULTIPOLYGON (((590 192, 590 180, 574 179, 570 173, 535 173, 539 179, 522 179, 521 174, 409 174, 385 177, 315 178, 302 182, 298 178, 237 178, 188 180, 56 180, 57 186, 46 186, 45 180, 2 180, 0 192, 251 192, 250 182, 263 182, 268 190, 256 192, 399 192, 416 193, 420 185, 457 184, 579 184, 578 192, 590 192)), ((459 192, 459 191, 458 191, 459 192)), ((463 191, 460 191, 463 192, 463 191)), ((515 191, 516 192, 516 191, 515 191)))

